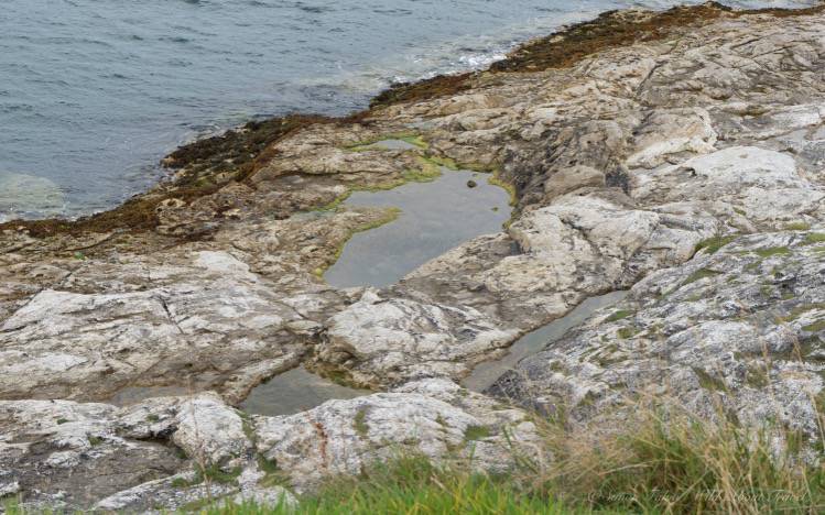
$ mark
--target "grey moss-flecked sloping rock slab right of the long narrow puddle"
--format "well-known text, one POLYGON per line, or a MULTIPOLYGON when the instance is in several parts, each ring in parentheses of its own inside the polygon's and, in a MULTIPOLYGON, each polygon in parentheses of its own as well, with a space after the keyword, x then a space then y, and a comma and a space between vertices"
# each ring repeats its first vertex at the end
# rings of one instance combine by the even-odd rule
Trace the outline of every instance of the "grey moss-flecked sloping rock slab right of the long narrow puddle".
POLYGON ((715 242, 641 281, 490 393, 547 412, 565 406, 578 421, 615 416, 632 397, 667 398, 703 417, 780 424, 813 439, 825 406, 823 252, 825 232, 813 229, 715 242))

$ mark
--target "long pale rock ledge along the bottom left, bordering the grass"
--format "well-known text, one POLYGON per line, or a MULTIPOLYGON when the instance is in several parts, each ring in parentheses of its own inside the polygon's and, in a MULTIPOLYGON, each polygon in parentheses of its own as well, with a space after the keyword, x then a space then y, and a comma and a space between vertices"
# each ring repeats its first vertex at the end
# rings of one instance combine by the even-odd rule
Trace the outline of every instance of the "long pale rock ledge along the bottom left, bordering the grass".
POLYGON ((539 439, 525 412, 444 380, 282 417, 250 417, 209 392, 124 408, 3 401, 0 415, 0 491, 66 509, 289 501, 284 486, 304 491, 404 452, 501 470, 513 446, 535 456, 539 439))

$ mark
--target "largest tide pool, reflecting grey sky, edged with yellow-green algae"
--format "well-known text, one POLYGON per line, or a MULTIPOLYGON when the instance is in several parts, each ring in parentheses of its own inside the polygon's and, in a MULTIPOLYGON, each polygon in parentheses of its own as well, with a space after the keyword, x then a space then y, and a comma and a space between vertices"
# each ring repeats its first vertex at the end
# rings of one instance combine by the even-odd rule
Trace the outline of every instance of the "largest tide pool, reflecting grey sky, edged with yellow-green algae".
POLYGON ((442 176, 431 183, 354 193, 345 205, 395 207, 401 215, 355 234, 324 278, 338 288, 388 286, 467 240, 501 231, 510 218, 510 198, 488 179, 488 174, 442 167, 442 176))

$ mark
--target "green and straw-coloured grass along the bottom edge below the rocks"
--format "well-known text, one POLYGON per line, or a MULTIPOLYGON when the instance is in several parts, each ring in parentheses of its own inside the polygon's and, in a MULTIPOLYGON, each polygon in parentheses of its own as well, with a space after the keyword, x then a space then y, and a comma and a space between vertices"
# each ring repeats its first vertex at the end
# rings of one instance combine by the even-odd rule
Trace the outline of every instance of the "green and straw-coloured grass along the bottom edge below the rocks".
POLYGON ((620 431, 536 424, 541 452, 553 459, 521 456, 507 473, 473 472, 466 459, 436 465, 399 456, 359 476, 327 481, 294 509, 224 504, 199 513, 761 514, 822 513, 825 503, 825 469, 792 458, 816 442, 780 425, 749 431, 721 413, 710 423, 679 407, 641 404, 620 431), (773 429, 788 441, 780 454, 773 429))

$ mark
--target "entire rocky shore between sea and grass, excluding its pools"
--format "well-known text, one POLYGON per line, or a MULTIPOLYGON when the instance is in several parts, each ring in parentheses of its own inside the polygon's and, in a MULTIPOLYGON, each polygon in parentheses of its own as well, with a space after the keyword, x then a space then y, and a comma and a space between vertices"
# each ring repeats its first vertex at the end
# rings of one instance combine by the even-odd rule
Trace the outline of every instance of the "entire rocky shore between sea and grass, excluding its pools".
POLYGON ((291 497, 399 449, 496 471, 541 452, 536 409, 586 425, 629 398, 814 435, 824 33, 825 8, 607 13, 346 119, 182 147, 174 179, 116 210, 0 224, 0 497, 291 497), (369 146, 388 138, 417 144, 369 146), (504 230, 387 288, 324 283, 354 232, 393 217, 340 206, 349 191, 459 165, 511 191, 504 230), (328 216, 296 216, 315 209, 328 216), (628 288, 486 394, 458 385, 628 288), (301 364, 376 393, 282 417, 234 407, 301 364), (127 388, 142 399, 115 405, 127 388))

